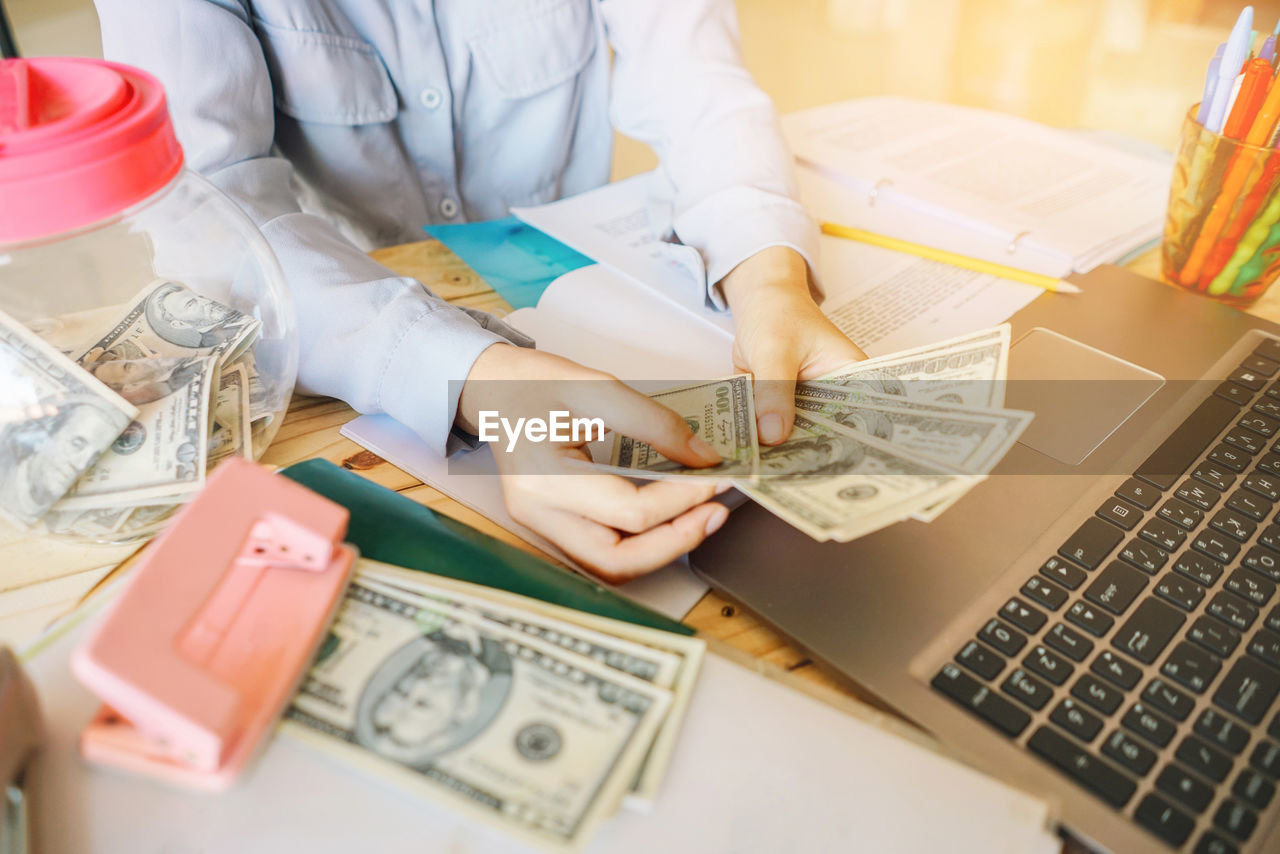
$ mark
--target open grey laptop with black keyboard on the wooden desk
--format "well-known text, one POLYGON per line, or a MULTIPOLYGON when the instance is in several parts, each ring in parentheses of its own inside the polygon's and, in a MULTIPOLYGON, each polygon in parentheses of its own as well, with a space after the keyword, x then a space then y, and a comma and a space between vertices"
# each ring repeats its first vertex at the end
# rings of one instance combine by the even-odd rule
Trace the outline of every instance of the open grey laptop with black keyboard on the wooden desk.
POLYGON ((1033 426, 936 521, 817 543, 748 504, 692 566, 1091 846, 1274 854, 1280 326, 1074 280, 1011 320, 1033 426))

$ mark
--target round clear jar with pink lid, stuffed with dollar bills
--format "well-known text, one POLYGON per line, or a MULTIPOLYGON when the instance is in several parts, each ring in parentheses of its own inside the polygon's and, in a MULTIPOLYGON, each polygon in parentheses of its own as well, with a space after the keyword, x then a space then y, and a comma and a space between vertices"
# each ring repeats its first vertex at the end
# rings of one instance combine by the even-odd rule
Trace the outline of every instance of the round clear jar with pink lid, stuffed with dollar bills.
POLYGON ((0 63, 0 517, 40 533, 154 534, 297 376, 270 246, 124 65, 0 63))

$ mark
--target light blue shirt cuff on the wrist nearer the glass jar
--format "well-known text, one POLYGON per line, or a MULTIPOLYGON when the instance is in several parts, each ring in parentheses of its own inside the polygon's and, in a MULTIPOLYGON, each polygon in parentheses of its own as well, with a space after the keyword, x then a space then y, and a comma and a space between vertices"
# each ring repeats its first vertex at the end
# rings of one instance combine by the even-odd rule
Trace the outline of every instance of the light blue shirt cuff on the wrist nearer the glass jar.
MULTIPOLYGON (((506 326, 506 324, 503 324, 506 326)), ((378 407, 417 433, 436 453, 476 447, 453 420, 471 366, 492 344, 527 346, 529 338, 480 326, 448 307, 424 307, 392 347, 378 383, 378 407)))

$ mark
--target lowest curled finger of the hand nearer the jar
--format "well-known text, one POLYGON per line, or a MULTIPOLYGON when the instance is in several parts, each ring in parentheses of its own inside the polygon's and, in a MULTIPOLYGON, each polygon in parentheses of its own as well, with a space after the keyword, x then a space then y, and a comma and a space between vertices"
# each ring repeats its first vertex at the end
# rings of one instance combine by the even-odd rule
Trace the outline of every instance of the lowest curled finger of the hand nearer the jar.
POLYGON ((527 524, 577 563, 611 584, 622 584, 666 566, 714 534, 728 519, 718 503, 699 504, 669 522, 626 536, 576 513, 541 507, 527 524))

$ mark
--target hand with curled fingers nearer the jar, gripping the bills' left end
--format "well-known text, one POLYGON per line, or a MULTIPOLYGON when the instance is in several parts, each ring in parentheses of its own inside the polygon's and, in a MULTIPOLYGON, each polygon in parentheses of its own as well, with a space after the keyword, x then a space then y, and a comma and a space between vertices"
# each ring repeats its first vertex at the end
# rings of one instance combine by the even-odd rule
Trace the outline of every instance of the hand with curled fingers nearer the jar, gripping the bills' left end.
MULTIPOLYGON (((457 423, 479 435, 485 411, 512 424, 517 417, 548 419, 552 411, 599 417, 686 466, 721 461, 676 412, 608 374, 534 350, 493 344, 480 355, 462 387, 457 423)), ((495 416, 486 417, 492 423, 495 416)), ((581 462, 590 462, 585 444, 520 438, 508 449, 502 435, 493 453, 512 519, 602 579, 620 584, 666 566, 728 519, 723 504, 709 501, 727 484, 707 478, 636 487, 625 478, 582 471, 581 462)))

